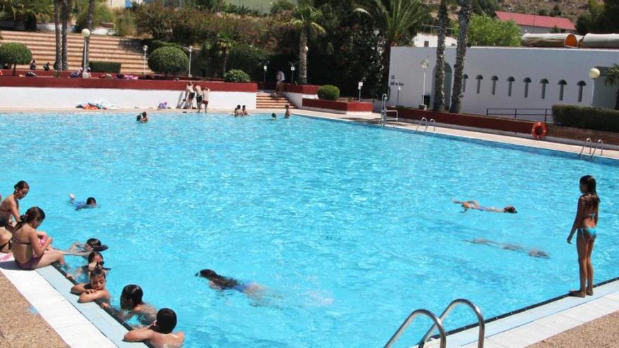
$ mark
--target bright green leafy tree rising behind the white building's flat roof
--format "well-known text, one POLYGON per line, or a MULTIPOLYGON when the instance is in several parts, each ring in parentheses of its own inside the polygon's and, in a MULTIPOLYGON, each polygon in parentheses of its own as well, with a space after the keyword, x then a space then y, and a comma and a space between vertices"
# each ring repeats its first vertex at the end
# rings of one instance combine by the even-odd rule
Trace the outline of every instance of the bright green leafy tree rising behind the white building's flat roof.
POLYGON ((520 28, 513 20, 503 22, 487 15, 473 15, 468 28, 472 46, 520 46, 520 28))

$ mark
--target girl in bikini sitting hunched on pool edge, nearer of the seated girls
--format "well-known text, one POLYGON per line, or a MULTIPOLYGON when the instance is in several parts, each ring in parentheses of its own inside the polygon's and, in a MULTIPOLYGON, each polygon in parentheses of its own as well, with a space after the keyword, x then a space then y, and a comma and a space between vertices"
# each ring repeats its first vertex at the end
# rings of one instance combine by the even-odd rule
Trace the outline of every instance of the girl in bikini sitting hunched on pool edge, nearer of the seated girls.
POLYGON ((46 250, 52 243, 52 238, 46 233, 37 231, 45 219, 45 213, 39 207, 32 207, 21 217, 15 225, 13 233, 13 256, 15 263, 21 269, 38 269, 58 262, 65 264, 65 257, 61 252, 46 250), (39 240, 45 240, 41 243, 39 240))

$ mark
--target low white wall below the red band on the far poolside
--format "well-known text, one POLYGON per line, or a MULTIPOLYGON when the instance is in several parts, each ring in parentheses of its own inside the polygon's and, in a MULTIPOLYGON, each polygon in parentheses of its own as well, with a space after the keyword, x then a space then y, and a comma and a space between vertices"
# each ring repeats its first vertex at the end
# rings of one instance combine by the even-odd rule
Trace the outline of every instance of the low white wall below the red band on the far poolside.
MULTIPOLYGON (((151 89, 74 89, 0 87, 0 108, 75 108, 75 105, 107 101, 122 108, 157 108, 167 101, 174 108, 182 92, 151 89)), ((211 91, 208 108, 234 109, 237 104, 256 108, 256 94, 253 92, 211 91)))

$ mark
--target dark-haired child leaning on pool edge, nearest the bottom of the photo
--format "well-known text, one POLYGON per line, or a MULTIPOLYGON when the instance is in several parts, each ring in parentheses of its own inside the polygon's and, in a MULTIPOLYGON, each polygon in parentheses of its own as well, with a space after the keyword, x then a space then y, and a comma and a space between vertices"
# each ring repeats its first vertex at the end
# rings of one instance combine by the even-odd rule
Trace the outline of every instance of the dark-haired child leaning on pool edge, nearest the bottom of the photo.
POLYGON ((157 320, 146 328, 131 330, 125 334, 123 340, 127 342, 147 341, 153 347, 180 347, 185 340, 185 333, 172 330, 177 326, 177 314, 169 308, 162 308, 157 312, 157 320))

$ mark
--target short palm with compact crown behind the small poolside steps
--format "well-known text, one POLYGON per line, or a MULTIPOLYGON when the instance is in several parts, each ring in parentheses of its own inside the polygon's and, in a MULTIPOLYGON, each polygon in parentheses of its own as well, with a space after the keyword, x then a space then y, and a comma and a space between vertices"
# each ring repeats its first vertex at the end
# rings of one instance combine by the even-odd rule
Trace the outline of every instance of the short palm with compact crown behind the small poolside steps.
POLYGON ((326 34, 324 27, 318 24, 322 12, 309 5, 295 8, 295 14, 290 22, 292 27, 300 31, 299 38, 299 83, 307 84, 307 39, 326 34))

